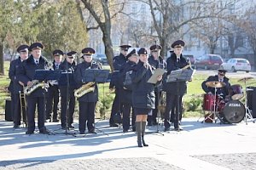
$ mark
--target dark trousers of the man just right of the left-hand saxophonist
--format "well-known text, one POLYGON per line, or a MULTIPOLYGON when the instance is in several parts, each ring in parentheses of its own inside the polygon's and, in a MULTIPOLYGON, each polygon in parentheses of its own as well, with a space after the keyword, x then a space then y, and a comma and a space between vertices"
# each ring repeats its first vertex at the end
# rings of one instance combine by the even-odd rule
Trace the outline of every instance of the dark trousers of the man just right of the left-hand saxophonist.
POLYGON ((53 120, 58 116, 59 88, 57 85, 50 86, 47 92, 46 119, 50 119, 53 112, 53 120))

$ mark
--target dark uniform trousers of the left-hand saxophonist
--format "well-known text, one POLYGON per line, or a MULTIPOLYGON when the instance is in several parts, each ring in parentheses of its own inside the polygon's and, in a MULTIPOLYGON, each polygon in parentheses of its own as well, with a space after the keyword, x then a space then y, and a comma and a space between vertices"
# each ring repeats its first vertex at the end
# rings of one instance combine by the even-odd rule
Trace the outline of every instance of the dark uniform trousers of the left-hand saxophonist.
POLYGON ((26 97, 27 102, 27 131, 33 132, 35 130, 35 111, 36 105, 38 105, 38 129, 44 130, 45 120, 45 102, 44 97, 26 97))

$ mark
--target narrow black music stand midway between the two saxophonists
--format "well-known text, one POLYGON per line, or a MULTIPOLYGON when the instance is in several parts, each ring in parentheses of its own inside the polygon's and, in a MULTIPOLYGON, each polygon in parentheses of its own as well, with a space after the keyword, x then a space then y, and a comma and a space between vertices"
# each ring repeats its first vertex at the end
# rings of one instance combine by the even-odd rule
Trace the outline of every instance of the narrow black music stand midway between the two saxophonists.
MULTIPOLYGON (((65 133, 54 133, 54 134, 66 134, 66 135, 70 134, 70 135, 73 135, 74 137, 76 137, 75 136, 76 133, 67 132, 67 131, 69 131, 69 127, 68 127, 68 119, 69 119, 69 88, 70 88, 70 85, 72 85, 72 86, 76 85, 76 82, 74 81, 74 77, 73 77, 73 72, 72 71, 60 72, 60 77, 57 80, 59 82, 59 86, 67 86, 67 98, 66 98, 66 100, 67 100, 67 111, 66 111, 66 128, 65 128, 65 133)), ((57 130, 60 130, 60 129, 57 129, 57 130)), ((55 130, 55 131, 57 131, 57 130, 55 130)))

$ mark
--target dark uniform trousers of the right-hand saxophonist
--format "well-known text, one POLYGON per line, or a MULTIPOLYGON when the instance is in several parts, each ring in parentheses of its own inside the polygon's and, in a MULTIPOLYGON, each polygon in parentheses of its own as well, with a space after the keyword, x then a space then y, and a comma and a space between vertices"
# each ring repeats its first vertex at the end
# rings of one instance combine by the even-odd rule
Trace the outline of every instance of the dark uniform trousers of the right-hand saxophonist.
POLYGON ((79 131, 84 133, 87 122, 88 131, 94 131, 96 102, 79 101, 79 131))

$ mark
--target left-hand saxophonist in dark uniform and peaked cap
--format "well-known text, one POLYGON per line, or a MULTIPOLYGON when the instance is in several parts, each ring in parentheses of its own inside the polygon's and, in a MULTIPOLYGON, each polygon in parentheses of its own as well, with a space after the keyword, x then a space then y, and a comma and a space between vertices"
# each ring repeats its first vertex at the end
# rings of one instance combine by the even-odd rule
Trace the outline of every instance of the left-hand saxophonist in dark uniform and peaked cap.
MULTIPOLYGON (((33 78, 36 70, 45 70, 49 63, 41 55, 41 51, 44 48, 40 42, 34 42, 29 47, 31 55, 28 59, 22 62, 22 67, 19 72, 19 80, 26 86, 33 86, 33 78)), ((36 88, 31 94, 26 96, 27 102, 27 131, 26 134, 32 134, 35 130, 35 111, 36 105, 38 105, 38 129, 39 133, 49 134, 49 130, 44 126, 45 120, 45 101, 44 101, 44 88, 36 88)))

